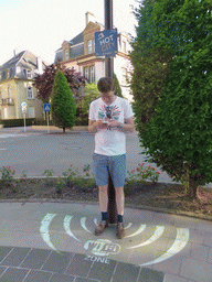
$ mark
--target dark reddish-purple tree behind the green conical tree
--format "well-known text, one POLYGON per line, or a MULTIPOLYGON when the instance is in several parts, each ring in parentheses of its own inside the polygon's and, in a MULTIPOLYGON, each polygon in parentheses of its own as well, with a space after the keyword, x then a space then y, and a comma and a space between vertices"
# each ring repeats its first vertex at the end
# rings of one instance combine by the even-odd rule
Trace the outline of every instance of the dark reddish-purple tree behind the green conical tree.
MULTIPOLYGON (((65 75, 68 86, 74 93, 74 95, 81 95, 81 87, 85 85, 84 77, 81 76, 80 73, 76 73, 74 68, 66 68, 65 66, 61 66, 60 64, 52 64, 45 67, 45 70, 42 75, 36 74, 34 77, 33 85, 39 90, 38 98, 43 102, 50 102, 52 86, 54 83, 54 76, 57 70, 62 70, 65 75)), ((77 97, 74 97, 77 100, 77 97)))

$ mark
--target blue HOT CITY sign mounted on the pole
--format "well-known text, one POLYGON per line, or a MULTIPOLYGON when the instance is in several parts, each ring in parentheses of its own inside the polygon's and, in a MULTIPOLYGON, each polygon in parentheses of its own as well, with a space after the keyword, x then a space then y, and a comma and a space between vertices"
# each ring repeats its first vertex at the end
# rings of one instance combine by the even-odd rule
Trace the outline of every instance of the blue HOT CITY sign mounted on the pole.
POLYGON ((117 51, 117 29, 95 32, 95 55, 97 57, 115 57, 117 51))

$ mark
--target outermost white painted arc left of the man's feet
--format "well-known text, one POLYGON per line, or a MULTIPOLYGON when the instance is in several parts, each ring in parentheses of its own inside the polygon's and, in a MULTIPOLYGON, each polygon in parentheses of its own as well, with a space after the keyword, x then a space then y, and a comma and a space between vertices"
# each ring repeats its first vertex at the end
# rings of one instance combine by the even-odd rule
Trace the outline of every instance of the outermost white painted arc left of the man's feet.
POLYGON ((50 224, 55 216, 56 216, 56 214, 47 213, 46 216, 43 217, 43 219, 41 220, 40 234, 41 234, 43 240, 50 246, 50 248, 57 251, 56 248, 54 247, 54 245, 51 242, 50 231, 49 231, 50 224))

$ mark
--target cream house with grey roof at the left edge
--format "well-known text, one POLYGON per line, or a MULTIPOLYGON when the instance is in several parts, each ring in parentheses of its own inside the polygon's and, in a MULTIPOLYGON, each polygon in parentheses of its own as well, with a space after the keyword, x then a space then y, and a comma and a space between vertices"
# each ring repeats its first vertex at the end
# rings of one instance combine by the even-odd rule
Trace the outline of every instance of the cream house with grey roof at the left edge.
POLYGON ((0 67, 0 119, 23 118, 21 104, 26 102, 26 118, 42 118, 43 104, 33 87, 35 74, 45 65, 29 51, 22 51, 0 67))

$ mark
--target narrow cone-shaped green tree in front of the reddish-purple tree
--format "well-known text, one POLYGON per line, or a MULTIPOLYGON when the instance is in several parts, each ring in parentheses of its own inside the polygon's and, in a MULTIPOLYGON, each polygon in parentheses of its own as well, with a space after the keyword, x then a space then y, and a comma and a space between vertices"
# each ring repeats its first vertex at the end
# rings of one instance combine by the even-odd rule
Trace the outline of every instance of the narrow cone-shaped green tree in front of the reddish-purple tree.
POLYGON ((76 106, 68 83, 62 70, 57 70, 51 95, 52 119, 55 126, 72 128, 75 123, 76 106))

